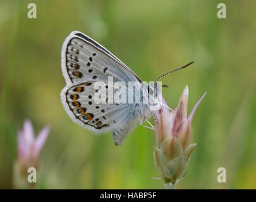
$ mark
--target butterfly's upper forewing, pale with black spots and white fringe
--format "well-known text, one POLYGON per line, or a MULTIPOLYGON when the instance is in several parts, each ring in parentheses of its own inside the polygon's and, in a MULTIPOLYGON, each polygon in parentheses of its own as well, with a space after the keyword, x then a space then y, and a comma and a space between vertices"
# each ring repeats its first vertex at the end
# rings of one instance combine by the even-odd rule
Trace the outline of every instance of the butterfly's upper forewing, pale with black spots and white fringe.
POLYGON ((63 43, 61 69, 66 83, 80 81, 139 81, 138 76, 109 50, 81 32, 71 32, 63 43))

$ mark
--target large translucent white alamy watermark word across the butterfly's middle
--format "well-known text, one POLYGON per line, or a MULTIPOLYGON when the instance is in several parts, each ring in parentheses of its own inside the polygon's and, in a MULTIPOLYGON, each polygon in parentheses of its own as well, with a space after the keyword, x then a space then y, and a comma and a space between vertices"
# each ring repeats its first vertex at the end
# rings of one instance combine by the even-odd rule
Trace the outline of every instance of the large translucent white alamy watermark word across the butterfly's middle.
POLYGON ((107 83, 94 83, 95 104, 148 104, 150 110, 159 110, 162 105, 162 82, 113 81, 108 76, 107 83))

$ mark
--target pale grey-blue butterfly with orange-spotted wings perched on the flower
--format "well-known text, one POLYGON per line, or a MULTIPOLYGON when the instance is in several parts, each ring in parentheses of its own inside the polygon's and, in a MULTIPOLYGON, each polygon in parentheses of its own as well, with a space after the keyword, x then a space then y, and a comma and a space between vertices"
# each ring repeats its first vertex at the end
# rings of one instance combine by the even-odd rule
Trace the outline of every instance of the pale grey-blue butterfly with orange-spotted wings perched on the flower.
MULTIPOLYGON (((107 102, 110 94, 104 97, 106 103, 95 102, 94 85, 101 81, 107 88, 109 76, 113 83, 122 81, 126 86, 130 81, 137 83, 138 88, 131 92, 153 102, 157 100, 154 93, 157 86, 143 83, 130 68, 87 35, 74 31, 66 37, 61 50, 61 69, 66 81, 61 102, 68 116, 95 133, 113 131, 115 145, 122 145, 138 122, 143 126, 142 123, 152 116, 149 103, 110 103, 107 102)), ((145 127, 154 129, 152 124, 150 126, 145 127)))

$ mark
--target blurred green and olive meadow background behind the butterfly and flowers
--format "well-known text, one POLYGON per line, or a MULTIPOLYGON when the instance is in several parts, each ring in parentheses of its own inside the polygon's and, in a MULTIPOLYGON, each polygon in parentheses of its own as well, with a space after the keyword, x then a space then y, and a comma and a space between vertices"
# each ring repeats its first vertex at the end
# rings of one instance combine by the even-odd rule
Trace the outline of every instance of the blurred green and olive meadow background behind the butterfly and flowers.
POLYGON ((107 47, 145 81, 162 78, 168 105, 185 85, 193 122, 185 179, 178 189, 256 188, 256 2, 251 1, 9 1, 0 2, 0 188, 12 187, 16 131, 26 118, 35 133, 51 126, 42 150, 40 188, 162 189, 154 167, 153 131, 137 127, 123 146, 111 133, 95 136, 70 120, 60 102, 65 86, 61 46, 79 30, 107 47), (37 19, 28 19, 28 3, 37 19), (226 3, 227 18, 217 18, 226 3), (227 182, 217 182, 217 168, 227 182))

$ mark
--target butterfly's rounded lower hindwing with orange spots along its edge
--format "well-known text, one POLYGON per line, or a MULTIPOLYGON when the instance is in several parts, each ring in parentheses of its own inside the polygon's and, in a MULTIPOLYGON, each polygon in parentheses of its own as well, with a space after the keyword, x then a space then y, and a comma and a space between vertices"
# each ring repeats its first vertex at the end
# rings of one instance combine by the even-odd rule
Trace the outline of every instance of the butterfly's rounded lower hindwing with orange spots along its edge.
POLYGON ((62 90, 61 101, 71 119, 95 132, 113 131, 130 121, 130 114, 135 114, 138 105, 134 109, 133 104, 108 103, 107 93, 101 97, 106 102, 96 103, 94 84, 95 81, 87 81, 62 90))

